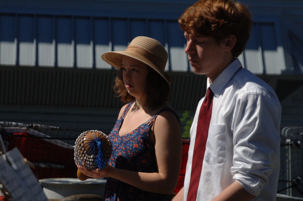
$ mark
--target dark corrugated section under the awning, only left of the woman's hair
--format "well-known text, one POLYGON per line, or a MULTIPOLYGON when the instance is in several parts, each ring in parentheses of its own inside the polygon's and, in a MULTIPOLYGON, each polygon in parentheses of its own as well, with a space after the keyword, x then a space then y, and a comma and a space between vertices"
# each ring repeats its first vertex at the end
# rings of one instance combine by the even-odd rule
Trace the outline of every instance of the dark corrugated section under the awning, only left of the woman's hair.
POLYGON ((120 107, 114 70, 0 68, 0 104, 46 107, 120 107))

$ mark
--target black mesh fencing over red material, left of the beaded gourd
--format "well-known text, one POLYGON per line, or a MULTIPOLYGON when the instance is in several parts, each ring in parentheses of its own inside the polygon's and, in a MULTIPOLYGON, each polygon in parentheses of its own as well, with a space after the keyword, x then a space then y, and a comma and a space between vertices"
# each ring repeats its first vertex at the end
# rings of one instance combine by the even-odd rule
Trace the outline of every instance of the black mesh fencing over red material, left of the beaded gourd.
POLYGON ((85 130, 41 124, 0 122, 6 151, 17 147, 38 179, 77 177, 74 145, 85 130))

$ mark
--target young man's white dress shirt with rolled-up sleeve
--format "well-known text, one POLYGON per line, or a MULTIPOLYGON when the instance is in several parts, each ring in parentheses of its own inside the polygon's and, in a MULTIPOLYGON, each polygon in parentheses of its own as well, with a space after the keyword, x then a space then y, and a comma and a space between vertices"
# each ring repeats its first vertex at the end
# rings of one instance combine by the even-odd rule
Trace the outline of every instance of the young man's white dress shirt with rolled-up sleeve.
MULTIPOLYGON (((241 66, 236 59, 210 85, 214 97, 196 199, 199 201, 213 199, 235 181, 257 196, 253 200, 276 200, 281 106, 275 91, 241 66)), ((203 100, 198 104, 190 130, 184 200, 203 100)))

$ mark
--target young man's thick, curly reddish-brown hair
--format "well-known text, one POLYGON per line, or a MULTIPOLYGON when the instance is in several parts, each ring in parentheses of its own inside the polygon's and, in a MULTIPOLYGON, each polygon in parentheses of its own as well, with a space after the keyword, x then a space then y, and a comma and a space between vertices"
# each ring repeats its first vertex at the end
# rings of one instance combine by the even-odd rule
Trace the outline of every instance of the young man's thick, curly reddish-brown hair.
POLYGON ((251 31, 250 11, 244 4, 231 0, 200 0, 185 10, 178 22, 182 31, 211 36, 218 43, 235 35, 233 57, 243 52, 251 31))

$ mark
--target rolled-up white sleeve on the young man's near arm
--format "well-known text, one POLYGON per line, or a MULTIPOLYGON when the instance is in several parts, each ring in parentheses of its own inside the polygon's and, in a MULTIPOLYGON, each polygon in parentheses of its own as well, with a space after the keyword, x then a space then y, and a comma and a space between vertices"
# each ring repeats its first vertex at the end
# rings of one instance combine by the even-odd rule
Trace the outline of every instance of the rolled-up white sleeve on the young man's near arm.
POLYGON ((245 93, 235 108, 230 171, 234 180, 258 196, 273 168, 280 165, 281 106, 269 91, 264 91, 245 93))

